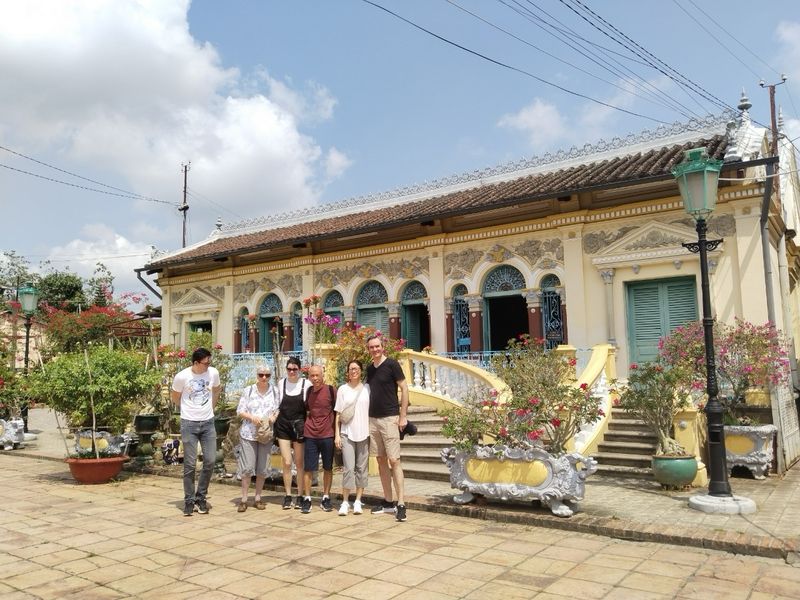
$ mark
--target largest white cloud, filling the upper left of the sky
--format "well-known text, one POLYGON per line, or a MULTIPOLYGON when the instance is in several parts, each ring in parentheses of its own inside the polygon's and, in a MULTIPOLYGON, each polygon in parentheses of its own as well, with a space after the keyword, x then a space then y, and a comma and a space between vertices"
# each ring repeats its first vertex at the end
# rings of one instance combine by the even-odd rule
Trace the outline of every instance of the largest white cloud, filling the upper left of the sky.
MULTIPOLYGON (((191 36, 188 7, 188 0, 3 3, 0 81, 13 85, 0 85, 0 136, 27 154, 49 154, 176 203, 180 165, 191 160, 189 187, 210 201, 190 200, 197 241, 217 215, 235 220, 316 202, 350 162, 301 130, 332 118, 336 99, 325 86, 298 89, 263 70, 224 67, 212 46, 191 36)), ((176 246, 179 238, 160 229, 139 237, 153 219, 166 227, 171 209, 136 209, 137 218, 102 218, 122 239, 176 246)))

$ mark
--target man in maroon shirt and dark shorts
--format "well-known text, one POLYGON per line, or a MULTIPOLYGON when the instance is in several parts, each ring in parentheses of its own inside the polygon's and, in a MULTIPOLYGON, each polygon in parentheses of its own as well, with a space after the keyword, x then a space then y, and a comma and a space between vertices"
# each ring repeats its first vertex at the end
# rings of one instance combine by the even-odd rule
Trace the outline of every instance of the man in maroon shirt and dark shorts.
POLYGON ((305 496, 300 503, 300 512, 311 512, 311 477, 319 466, 322 456, 322 502, 320 508, 325 512, 333 509, 331 504, 331 484, 333 483, 333 407, 336 392, 333 386, 322 382, 322 367, 314 365, 308 369, 308 379, 312 387, 306 395, 306 424, 303 430, 305 450, 303 463, 303 491, 305 496))

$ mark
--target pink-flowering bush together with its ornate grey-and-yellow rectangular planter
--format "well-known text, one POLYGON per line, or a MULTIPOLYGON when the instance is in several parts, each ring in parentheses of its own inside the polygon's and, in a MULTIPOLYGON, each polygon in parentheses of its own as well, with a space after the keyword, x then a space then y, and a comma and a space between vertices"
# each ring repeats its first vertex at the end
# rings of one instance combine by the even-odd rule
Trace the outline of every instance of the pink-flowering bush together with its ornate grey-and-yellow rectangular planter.
POLYGON ((443 411, 443 435, 454 441, 442 451, 450 483, 501 500, 538 500, 553 514, 570 516, 567 502, 583 499, 584 482, 596 462, 570 452, 580 428, 602 416, 600 399, 575 381, 575 362, 545 351, 527 335, 511 340, 492 359, 507 388, 473 393, 443 411))

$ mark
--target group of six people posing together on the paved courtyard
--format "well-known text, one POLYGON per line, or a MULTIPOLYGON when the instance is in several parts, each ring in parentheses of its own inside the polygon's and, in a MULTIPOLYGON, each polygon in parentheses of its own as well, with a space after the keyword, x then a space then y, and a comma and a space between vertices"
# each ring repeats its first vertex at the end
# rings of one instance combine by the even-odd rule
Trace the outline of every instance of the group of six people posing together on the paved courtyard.
MULTIPOLYGON (((393 513, 398 521, 406 520, 400 433, 408 423, 408 385, 400 364, 386 356, 380 336, 367 340, 367 350, 372 360, 366 368, 366 380, 364 365, 352 360, 347 365, 346 382, 338 389, 324 383, 319 365, 309 367, 308 379, 303 378, 300 361, 294 357, 286 363, 286 377, 275 385, 270 382, 269 366, 256 369, 256 383, 243 390, 236 411, 242 420, 239 512, 248 508, 253 475, 256 477, 253 507, 266 508, 262 490, 274 436, 281 453, 284 510, 294 507, 304 514, 311 511, 311 484, 320 459, 323 471, 320 508, 326 512, 333 510, 333 462, 335 448, 339 448, 344 465, 339 515, 346 516, 351 511, 362 514, 362 495, 367 487, 372 453, 378 463, 384 497, 371 512, 393 513), (297 481, 294 500, 293 462, 297 481), (355 494, 352 503, 351 493, 355 494)), ((208 350, 196 350, 192 366, 178 373, 172 385, 172 400, 181 409, 186 516, 195 510, 207 513, 211 508, 206 496, 214 465, 213 406, 219 396, 219 373, 209 365, 210 356, 208 350), (198 443, 203 451, 203 467, 195 487, 198 443)))

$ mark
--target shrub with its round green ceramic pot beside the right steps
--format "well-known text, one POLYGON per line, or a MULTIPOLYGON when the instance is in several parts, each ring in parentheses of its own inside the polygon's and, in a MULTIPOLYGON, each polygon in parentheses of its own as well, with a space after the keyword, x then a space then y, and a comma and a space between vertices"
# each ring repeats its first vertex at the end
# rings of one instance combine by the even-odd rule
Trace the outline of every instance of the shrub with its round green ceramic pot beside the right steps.
POLYGON ((675 416, 689 408, 691 376, 663 358, 632 364, 628 382, 616 405, 644 421, 656 435, 653 476, 664 487, 684 487, 697 475, 697 459, 688 454, 672 435, 675 416))

